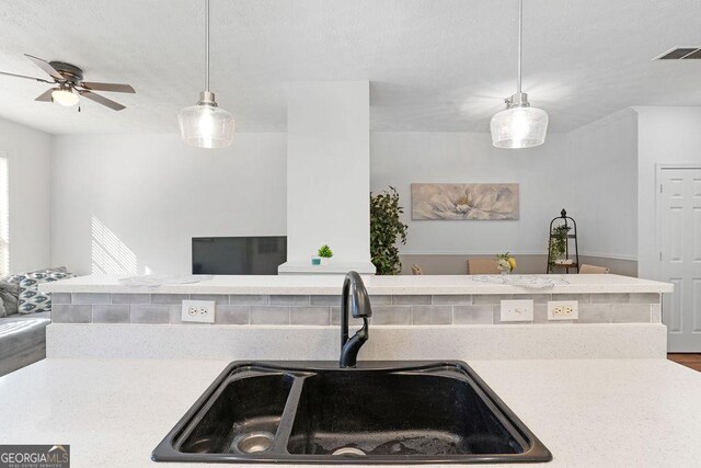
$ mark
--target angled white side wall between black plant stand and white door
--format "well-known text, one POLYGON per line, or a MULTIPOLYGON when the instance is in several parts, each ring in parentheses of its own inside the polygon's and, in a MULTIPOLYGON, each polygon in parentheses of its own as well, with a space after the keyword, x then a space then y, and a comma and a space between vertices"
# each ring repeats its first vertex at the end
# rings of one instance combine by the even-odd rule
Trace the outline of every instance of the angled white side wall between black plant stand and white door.
POLYGON ((637 258, 637 114, 611 114, 570 134, 579 253, 637 258))

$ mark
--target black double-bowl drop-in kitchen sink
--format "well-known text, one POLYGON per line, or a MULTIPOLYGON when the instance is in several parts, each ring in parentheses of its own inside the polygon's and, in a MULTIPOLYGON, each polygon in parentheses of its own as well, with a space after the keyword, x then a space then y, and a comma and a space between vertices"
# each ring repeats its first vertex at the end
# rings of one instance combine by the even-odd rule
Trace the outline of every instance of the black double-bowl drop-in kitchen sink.
POLYGON ((461 362, 231 363, 153 450, 157 461, 549 461, 461 362))

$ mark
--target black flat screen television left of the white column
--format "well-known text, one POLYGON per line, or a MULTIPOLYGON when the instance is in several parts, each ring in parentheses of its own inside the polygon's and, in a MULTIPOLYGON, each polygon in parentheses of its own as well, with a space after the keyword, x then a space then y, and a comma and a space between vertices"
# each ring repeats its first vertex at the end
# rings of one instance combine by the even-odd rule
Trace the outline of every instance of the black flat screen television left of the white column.
POLYGON ((193 238, 193 274, 276 275, 287 261, 287 237, 193 238))

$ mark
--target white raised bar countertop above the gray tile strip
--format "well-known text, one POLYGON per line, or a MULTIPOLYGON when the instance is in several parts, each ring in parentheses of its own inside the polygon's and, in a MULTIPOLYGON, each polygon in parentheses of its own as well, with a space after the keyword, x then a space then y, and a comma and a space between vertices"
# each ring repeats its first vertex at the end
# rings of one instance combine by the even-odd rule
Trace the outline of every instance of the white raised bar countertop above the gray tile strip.
MULTIPOLYGON (((365 276, 370 294, 604 294, 604 293, 671 293, 673 285, 620 275, 524 275, 549 277, 558 283, 549 288, 475 281, 470 275, 365 276)), ((209 276, 191 284, 134 286, 119 282, 120 276, 89 275, 42 285, 49 293, 152 293, 152 294, 275 294, 337 295, 342 276, 209 276)), ((499 281, 499 276, 494 276, 499 281)))

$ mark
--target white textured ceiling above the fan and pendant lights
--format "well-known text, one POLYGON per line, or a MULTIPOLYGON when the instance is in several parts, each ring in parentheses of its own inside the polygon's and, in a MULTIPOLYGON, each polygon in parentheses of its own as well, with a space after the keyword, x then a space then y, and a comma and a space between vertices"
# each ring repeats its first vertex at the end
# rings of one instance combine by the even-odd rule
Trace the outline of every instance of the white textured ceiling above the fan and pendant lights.
MULTIPOLYGON (((0 116, 62 133, 176 132, 204 76, 203 0, 0 0, 0 70, 22 54, 88 81, 128 82, 127 105, 34 102, 47 84, 0 77, 0 116)), ((211 89, 239 132, 284 132, 286 82, 370 80, 375 130, 486 132, 515 91, 517 0, 211 0, 211 89)), ((526 0, 524 91, 567 132, 630 105, 701 105, 698 0, 526 0)))

